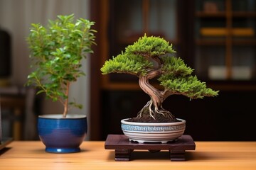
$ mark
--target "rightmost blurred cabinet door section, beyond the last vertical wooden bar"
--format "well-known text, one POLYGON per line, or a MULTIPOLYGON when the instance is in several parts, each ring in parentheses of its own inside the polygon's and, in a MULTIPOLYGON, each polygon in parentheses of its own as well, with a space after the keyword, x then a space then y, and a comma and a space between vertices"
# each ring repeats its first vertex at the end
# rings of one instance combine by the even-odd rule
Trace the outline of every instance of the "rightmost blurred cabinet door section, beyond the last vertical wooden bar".
POLYGON ((232 79, 256 79, 256 1, 232 1, 232 79))

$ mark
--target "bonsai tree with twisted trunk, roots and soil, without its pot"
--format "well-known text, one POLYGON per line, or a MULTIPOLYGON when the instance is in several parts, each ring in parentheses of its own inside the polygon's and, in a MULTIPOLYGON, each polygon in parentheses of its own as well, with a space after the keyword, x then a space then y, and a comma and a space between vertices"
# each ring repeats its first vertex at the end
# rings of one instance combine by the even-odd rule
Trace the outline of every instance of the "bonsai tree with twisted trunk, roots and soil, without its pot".
POLYGON ((139 86, 151 99, 134 121, 175 122, 174 115, 162 107, 166 98, 174 94, 191 99, 218 95, 218 91, 207 88, 205 82, 193 76, 193 69, 181 58, 171 56, 174 52, 163 38, 144 35, 101 68, 102 74, 126 73, 139 77, 139 86), (157 79, 164 88, 156 89, 150 84, 151 79, 157 79))

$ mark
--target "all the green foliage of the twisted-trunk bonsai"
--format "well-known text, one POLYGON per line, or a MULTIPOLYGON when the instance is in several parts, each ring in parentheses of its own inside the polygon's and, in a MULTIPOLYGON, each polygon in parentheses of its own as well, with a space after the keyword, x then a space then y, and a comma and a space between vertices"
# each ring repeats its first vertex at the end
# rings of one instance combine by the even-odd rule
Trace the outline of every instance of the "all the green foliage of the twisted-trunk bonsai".
POLYGON ((133 45, 127 46, 125 52, 107 60, 101 71, 102 74, 127 73, 142 77, 159 70, 160 74, 156 77, 169 94, 181 94, 188 98, 218 95, 218 91, 207 88, 205 82, 193 76, 193 69, 181 58, 172 57, 173 52, 172 45, 163 38, 144 35, 133 45))

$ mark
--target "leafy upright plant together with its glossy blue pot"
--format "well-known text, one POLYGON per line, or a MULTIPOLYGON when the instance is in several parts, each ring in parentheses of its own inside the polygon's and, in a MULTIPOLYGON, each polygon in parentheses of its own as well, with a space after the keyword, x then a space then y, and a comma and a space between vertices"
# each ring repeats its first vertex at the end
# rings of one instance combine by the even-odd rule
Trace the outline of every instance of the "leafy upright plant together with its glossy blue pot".
POLYGON ((86 115, 68 114, 70 108, 82 108, 70 101, 70 85, 81 76, 82 60, 92 53, 95 44, 95 23, 84 18, 74 20, 74 14, 49 20, 48 26, 32 23, 26 38, 31 50, 31 67, 26 85, 38 89, 52 101, 63 105, 63 114, 39 115, 38 135, 46 145, 46 152, 80 152, 80 144, 87 134, 86 115))

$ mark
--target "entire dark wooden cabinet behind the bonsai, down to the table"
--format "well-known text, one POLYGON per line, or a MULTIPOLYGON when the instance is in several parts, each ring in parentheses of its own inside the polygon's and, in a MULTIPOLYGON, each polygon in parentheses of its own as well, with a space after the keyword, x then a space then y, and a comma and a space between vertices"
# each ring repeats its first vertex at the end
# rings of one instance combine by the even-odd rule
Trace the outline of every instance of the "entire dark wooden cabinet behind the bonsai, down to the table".
POLYGON ((91 57, 92 140, 121 133, 120 120, 135 116, 149 100, 137 77, 100 73, 107 59, 144 33, 164 36, 199 79, 220 90, 216 98, 165 101, 164 108, 187 120, 187 134, 195 140, 255 140, 248 131, 255 120, 249 112, 255 110, 255 0, 95 0, 91 5, 98 30, 91 57), (206 132, 198 130, 201 124, 206 132))

